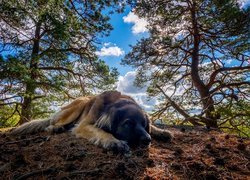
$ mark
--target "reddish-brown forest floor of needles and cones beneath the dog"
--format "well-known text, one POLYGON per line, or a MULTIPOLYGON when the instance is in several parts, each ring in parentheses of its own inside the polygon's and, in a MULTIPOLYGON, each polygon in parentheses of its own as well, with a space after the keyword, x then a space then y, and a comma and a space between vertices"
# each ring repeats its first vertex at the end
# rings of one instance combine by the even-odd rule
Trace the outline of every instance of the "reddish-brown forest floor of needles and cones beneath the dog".
POLYGON ((0 179, 250 179, 250 139, 201 128, 170 128, 130 156, 71 133, 0 137, 0 179))

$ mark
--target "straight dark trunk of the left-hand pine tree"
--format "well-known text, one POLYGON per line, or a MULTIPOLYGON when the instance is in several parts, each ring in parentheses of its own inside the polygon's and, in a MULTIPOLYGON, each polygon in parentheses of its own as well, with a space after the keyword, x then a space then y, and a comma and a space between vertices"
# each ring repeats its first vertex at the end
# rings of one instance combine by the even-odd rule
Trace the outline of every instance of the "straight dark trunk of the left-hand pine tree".
POLYGON ((18 124, 23 124, 31 120, 32 117, 32 100, 35 95, 35 89, 37 87, 37 69, 39 62, 39 42, 40 42, 41 22, 36 24, 35 38, 33 40, 33 49, 30 60, 30 80, 26 82, 25 95, 23 97, 21 117, 18 124))

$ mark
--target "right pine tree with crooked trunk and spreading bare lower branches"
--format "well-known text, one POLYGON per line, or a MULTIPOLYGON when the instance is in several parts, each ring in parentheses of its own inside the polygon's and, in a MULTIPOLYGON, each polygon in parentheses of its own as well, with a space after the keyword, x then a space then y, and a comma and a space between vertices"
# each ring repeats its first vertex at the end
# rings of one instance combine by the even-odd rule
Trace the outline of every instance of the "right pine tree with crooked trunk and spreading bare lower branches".
POLYGON ((150 82, 149 94, 165 98, 155 115, 218 127, 219 106, 249 104, 249 9, 235 0, 142 0, 134 13, 149 37, 123 63, 137 68, 138 86, 150 82))

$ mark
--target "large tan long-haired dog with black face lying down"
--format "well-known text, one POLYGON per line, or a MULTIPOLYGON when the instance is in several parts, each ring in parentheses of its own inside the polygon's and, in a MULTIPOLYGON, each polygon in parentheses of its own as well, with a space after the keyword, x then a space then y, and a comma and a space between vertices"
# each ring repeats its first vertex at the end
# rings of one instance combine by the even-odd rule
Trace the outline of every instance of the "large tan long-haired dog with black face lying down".
POLYGON ((172 139, 169 131, 151 124, 133 98, 118 91, 77 98, 47 120, 30 121, 13 129, 10 134, 69 129, 76 137, 119 152, 128 152, 129 146, 133 145, 148 146, 151 136, 166 141, 172 139))

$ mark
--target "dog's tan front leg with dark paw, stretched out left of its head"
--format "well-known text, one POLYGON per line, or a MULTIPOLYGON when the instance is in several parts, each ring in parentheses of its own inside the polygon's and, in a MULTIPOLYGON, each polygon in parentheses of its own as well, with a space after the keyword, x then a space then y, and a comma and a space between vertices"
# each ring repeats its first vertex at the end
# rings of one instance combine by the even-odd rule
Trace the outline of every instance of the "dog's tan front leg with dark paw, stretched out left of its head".
POLYGON ((101 146, 105 149, 123 153, 129 152, 129 146, 125 141, 116 139, 112 134, 97 128, 94 125, 80 124, 73 129, 73 133, 77 137, 85 138, 95 145, 101 146))

